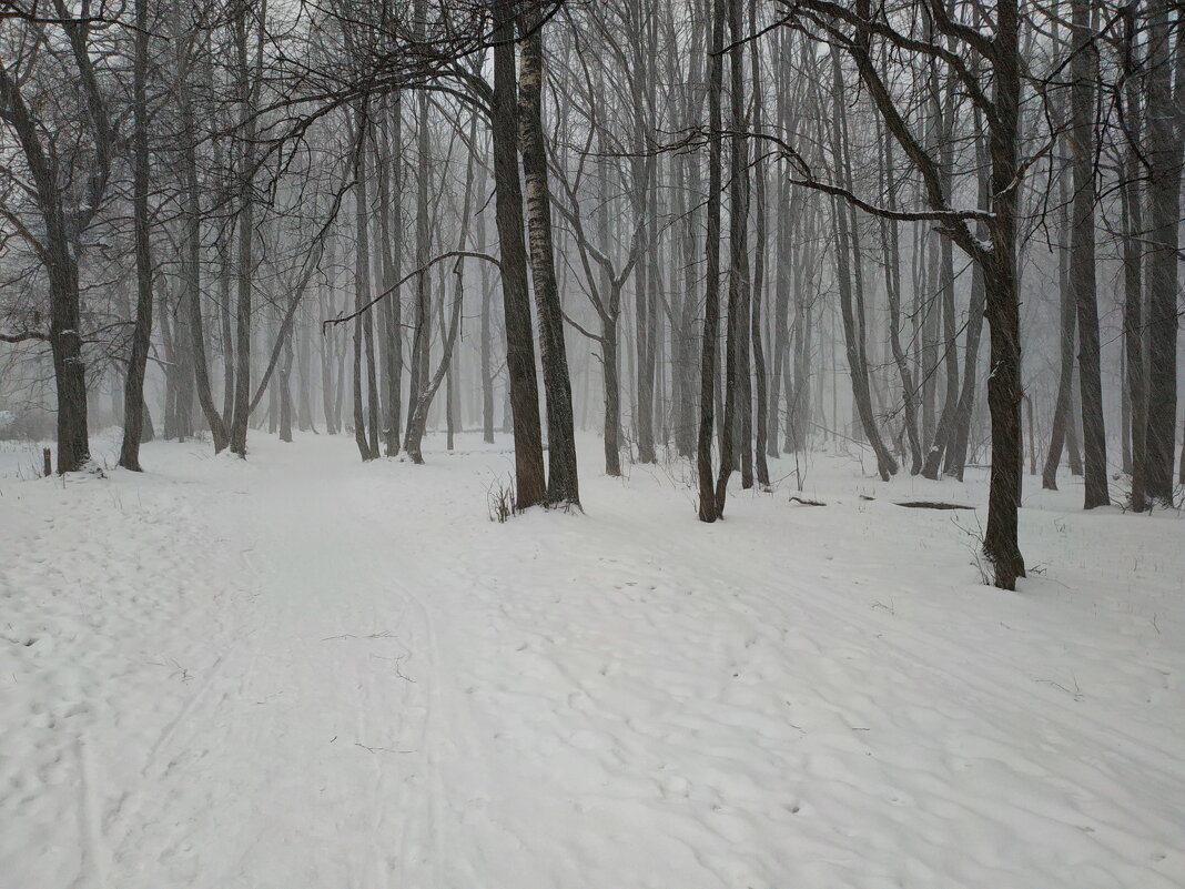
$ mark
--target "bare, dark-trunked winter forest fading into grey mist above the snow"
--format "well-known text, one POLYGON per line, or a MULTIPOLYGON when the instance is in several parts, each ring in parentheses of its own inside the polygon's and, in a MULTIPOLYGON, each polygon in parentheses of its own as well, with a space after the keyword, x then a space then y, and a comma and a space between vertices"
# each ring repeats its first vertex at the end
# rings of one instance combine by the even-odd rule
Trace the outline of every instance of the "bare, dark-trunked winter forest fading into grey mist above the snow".
POLYGON ((690 461, 704 522, 783 452, 987 463, 1011 589, 1026 474, 1138 512, 1185 484, 1183 30, 1170 0, 4 0, 0 407, 52 411, 59 472, 107 423, 129 469, 158 426, 421 462, 500 424, 520 507, 578 507, 596 429, 610 475, 690 461))

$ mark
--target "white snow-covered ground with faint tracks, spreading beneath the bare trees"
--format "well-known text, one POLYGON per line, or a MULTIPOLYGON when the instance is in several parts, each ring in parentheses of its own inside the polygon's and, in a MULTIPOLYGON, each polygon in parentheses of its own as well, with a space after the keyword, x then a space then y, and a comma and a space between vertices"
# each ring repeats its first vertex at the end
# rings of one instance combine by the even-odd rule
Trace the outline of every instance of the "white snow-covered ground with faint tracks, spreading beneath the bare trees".
POLYGON ((709 526, 589 439, 585 514, 494 524, 504 446, 251 447, 0 454, 4 889, 1185 885, 1178 513, 1029 479, 1013 594, 892 503, 980 477, 709 526))

